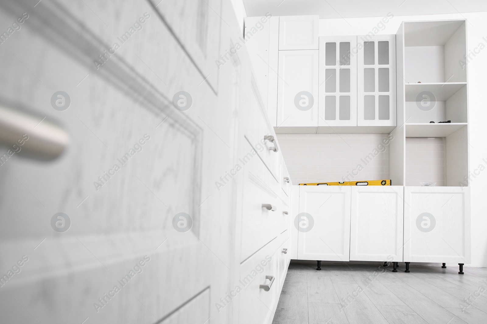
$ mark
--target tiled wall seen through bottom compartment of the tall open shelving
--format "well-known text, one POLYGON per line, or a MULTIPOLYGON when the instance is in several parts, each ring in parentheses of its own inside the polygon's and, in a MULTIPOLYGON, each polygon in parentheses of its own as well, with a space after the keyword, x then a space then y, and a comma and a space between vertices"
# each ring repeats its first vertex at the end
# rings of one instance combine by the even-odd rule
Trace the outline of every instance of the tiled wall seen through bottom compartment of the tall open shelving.
POLYGON ((406 186, 445 186, 445 137, 406 138, 406 186))

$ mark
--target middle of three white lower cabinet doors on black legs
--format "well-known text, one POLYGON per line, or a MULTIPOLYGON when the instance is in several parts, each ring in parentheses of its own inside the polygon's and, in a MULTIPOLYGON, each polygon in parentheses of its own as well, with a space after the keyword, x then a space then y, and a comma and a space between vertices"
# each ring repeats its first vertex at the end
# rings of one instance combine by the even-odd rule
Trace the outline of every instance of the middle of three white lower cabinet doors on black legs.
POLYGON ((352 187, 350 260, 402 262, 403 186, 352 187))

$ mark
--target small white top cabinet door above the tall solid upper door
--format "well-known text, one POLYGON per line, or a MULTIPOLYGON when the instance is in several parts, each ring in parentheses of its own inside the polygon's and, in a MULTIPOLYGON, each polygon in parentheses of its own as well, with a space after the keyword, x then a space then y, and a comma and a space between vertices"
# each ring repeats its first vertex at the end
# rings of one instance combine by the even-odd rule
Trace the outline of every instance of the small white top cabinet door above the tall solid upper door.
POLYGON ((318 50, 319 16, 279 17, 279 50, 318 50))

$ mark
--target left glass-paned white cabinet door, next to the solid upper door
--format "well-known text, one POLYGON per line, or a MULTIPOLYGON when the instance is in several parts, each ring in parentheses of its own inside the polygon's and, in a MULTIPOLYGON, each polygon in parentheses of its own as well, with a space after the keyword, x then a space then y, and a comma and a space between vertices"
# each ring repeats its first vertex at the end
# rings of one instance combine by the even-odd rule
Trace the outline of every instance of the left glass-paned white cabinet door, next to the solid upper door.
POLYGON ((318 126, 357 125, 356 36, 319 37, 318 126))

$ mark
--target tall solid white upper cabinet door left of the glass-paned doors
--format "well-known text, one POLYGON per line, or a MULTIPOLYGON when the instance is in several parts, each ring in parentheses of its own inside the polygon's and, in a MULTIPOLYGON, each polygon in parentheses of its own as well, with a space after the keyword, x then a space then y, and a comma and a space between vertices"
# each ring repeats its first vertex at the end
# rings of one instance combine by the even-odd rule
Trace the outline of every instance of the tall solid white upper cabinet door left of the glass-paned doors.
POLYGON ((279 51, 277 126, 318 127, 318 50, 279 51))

